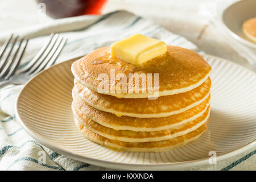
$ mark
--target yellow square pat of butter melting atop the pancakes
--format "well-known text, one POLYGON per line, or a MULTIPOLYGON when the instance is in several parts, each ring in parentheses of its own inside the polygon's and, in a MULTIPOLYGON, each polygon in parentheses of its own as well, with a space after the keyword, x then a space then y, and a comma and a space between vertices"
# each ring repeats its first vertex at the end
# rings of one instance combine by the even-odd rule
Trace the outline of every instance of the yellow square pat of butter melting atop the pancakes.
POLYGON ((166 43, 141 34, 129 36, 110 47, 110 55, 132 64, 142 64, 167 51, 166 43))

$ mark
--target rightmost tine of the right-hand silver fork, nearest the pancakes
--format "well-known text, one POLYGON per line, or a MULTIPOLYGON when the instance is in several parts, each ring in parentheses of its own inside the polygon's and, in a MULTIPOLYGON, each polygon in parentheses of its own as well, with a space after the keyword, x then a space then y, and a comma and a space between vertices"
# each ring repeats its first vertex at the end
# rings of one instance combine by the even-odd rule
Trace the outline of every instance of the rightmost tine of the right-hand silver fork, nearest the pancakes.
POLYGON ((40 65, 40 67, 38 69, 36 69, 36 71, 33 74, 36 74, 40 71, 42 71, 46 65, 52 65, 54 63, 54 61, 56 60, 57 56, 55 53, 57 53, 57 55, 59 55, 59 48, 62 48, 64 46, 65 41, 63 41, 63 37, 61 36, 55 46, 52 48, 52 51, 49 53, 48 57, 46 60, 43 61, 43 63, 40 65))

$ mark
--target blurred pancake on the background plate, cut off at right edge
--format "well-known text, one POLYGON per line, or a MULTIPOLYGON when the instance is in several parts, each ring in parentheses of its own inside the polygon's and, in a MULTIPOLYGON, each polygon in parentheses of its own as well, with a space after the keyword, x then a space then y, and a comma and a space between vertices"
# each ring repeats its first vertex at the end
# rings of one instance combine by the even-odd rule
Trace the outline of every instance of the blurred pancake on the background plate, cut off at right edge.
POLYGON ((242 29, 247 38, 256 43, 256 17, 243 22, 242 29))

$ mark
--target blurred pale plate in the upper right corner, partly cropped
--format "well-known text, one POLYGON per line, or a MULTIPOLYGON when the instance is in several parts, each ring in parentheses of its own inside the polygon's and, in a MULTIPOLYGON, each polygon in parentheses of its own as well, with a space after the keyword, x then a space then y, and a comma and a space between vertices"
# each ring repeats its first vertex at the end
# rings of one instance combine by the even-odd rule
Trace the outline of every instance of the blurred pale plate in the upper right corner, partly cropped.
POLYGON ((245 20, 256 17, 256 1, 243 0, 230 5, 222 13, 222 23, 225 30, 246 46, 256 49, 256 44, 251 42, 242 32, 245 20))

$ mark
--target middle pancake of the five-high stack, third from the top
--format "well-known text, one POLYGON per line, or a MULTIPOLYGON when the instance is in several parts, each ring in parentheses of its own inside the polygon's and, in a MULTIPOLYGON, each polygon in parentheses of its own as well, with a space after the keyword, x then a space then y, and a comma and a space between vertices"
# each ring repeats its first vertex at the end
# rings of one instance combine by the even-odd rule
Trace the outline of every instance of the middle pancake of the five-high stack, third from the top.
POLYGON ((162 118, 134 118, 134 117, 117 117, 115 114, 97 110, 86 104, 76 92, 73 92, 73 104, 86 117, 99 123, 100 125, 110 127, 115 130, 131 130, 131 131, 159 131, 172 129, 176 126, 190 122, 202 115, 209 106, 210 96, 200 105, 192 107, 183 113, 170 115, 162 118))

